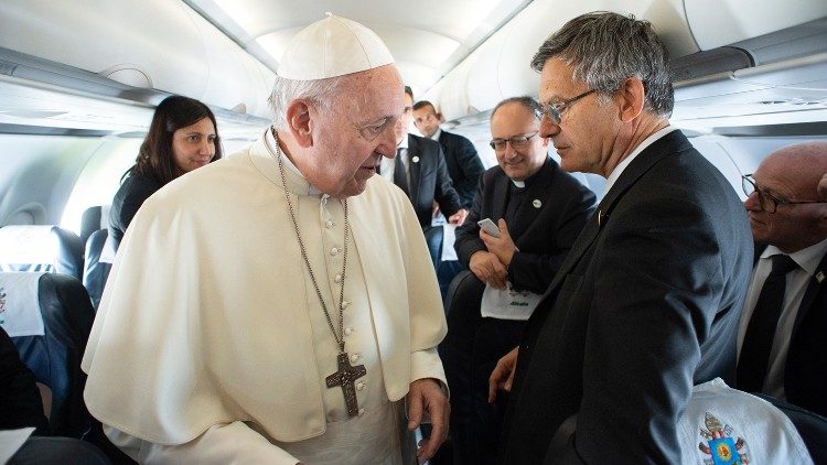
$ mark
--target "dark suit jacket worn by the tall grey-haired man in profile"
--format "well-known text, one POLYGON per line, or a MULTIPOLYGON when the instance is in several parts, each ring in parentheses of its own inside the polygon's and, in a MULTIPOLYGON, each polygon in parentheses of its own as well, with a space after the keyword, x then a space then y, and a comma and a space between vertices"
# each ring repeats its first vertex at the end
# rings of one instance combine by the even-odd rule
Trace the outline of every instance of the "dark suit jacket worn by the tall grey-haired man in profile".
POLYGON ((672 463, 692 385, 734 378, 752 239, 731 184, 673 131, 597 209, 526 326, 500 463, 672 463))

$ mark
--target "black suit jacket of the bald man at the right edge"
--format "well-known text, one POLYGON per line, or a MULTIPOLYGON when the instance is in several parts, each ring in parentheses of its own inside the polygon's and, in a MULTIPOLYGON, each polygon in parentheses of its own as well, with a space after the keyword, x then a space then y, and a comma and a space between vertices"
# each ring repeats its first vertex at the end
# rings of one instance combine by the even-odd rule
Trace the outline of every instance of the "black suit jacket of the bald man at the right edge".
MULTIPOLYGON (((766 246, 755 250, 755 257, 766 246)), ((758 260, 756 260, 758 261, 758 260)), ((827 255, 818 263, 827 274, 827 255)), ((827 417, 827 284, 812 278, 795 315, 784 368, 784 394, 790 403, 827 417)))

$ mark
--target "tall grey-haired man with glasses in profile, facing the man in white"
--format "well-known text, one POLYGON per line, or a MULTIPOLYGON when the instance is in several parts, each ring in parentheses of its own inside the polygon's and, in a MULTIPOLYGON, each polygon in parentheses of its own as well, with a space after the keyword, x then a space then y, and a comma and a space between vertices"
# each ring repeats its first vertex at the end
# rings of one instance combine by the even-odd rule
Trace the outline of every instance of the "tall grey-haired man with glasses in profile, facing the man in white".
POLYGON ((492 394, 512 389, 500 463, 674 462, 692 386, 733 379, 749 224, 732 185, 669 126, 666 63, 649 23, 606 12, 569 21, 531 61, 540 136, 563 170, 608 180, 492 374, 492 394))

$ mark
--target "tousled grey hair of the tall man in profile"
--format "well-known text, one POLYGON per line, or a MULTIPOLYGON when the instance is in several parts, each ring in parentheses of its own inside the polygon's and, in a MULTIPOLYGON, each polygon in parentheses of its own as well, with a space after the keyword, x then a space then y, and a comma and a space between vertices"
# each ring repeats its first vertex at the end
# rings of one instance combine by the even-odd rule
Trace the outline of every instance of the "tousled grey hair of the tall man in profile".
POLYGON ((644 109, 669 117, 675 105, 668 52, 652 23, 606 11, 582 14, 551 34, 531 58, 543 71, 549 58, 573 68, 572 78, 597 90, 603 101, 629 77, 643 82, 644 109))

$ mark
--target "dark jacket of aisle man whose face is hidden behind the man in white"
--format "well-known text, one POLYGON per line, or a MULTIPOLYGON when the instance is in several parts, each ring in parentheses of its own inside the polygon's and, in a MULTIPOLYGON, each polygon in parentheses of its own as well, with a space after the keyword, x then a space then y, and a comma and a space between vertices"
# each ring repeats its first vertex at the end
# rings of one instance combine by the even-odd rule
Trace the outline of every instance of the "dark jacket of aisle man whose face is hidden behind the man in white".
POLYGON ((431 226, 434 199, 445 218, 462 208, 460 196, 453 188, 451 176, 448 175, 442 149, 437 141, 408 134, 408 166, 410 188, 399 187, 408 194, 422 228, 431 226), (417 161, 414 161, 415 156, 418 158, 417 161))

